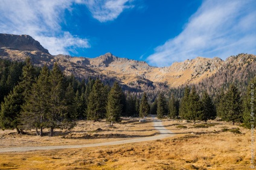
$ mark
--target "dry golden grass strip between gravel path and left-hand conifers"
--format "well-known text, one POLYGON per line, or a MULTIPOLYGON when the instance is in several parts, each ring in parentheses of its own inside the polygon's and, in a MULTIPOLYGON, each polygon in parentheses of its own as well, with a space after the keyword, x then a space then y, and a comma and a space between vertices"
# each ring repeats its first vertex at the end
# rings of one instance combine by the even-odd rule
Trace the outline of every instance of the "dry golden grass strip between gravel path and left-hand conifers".
POLYGON ((0 148, 16 146, 46 146, 46 145, 81 145, 89 143, 111 142, 130 139, 132 137, 146 137, 158 134, 153 122, 138 122, 137 118, 124 119, 120 124, 110 127, 106 121, 78 121, 77 126, 70 130, 56 129, 54 136, 49 136, 49 130, 43 130, 45 136, 36 136, 34 130, 25 134, 16 134, 15 130, 0 130, 0 148))

